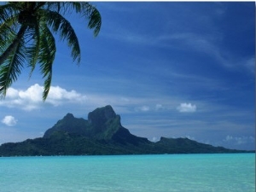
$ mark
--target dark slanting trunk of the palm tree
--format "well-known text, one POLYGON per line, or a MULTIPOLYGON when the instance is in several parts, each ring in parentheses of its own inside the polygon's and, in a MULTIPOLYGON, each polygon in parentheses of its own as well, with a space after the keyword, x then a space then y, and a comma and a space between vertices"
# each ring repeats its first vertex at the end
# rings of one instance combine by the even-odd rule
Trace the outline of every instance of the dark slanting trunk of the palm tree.
POLYGON ((20 44, 20 40, 23 37, 24 33, 26 32, 27 26, 21 26, 20 31, 17 33, 17 36, 12 44, 3 52, 0 56, 0 67, 3 65, 3 62, 9 57, 9 55, 13 54, 15 48, 20 44))

